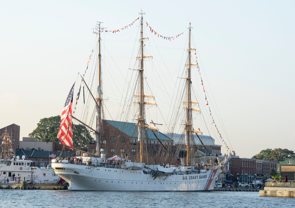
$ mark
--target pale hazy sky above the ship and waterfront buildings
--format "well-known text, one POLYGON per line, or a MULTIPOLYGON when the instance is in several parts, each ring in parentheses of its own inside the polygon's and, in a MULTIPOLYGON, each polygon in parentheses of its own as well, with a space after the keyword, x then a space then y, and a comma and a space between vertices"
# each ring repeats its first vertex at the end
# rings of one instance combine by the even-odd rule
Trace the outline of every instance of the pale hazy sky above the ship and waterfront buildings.
MULTIPOLYGON (((15 123, 20 138, 27 137, 40 119, 60 115, 77 73, 85 71, 96 21, 107 30, 119 29, 139 17, 141 8, 158 33, 186 31, 173 43, 153 39, 166 48, 168 78, 177 77, 181 60, 176 55, 183 52, 170 48, 183 48, 191 22, 204 84, 211 88, 237 155, 295 150, 294 1, 2 1, 0 128, 15 123)), ((128 30, 124 41, 124 33, 117 42, 112 35, 103 37, 120 68, 110 64, 113 76, 130 67, 134 41, 127 34, 134 28, 128 30)), ((107 96, 112 109, 112 92, 107 96)), ((167 103, 161 106, 158 99, 168 114, 167 103)))

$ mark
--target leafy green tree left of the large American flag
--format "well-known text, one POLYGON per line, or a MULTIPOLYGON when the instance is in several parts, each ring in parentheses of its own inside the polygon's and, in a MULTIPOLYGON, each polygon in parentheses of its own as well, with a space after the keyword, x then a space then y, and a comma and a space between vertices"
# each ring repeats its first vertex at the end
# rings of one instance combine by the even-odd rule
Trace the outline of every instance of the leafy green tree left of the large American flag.
POLYGON ((37 123, 37 128, 29 133, 29 137, 37 137, 38 141, 59 142, 59 139, 57 138, 59 127, 60 115, 42 118, 39 123, 37 123))

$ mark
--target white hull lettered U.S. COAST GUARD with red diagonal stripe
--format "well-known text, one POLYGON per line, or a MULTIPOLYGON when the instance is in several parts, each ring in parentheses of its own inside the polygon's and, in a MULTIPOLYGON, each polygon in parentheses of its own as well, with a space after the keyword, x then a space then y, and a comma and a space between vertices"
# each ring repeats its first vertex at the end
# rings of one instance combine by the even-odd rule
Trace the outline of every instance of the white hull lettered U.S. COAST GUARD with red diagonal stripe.
POLYGON ((53 163, 69 190, 93 191, 212 191, 221 168, 200 174, 145 174, 142 170, 53 163))

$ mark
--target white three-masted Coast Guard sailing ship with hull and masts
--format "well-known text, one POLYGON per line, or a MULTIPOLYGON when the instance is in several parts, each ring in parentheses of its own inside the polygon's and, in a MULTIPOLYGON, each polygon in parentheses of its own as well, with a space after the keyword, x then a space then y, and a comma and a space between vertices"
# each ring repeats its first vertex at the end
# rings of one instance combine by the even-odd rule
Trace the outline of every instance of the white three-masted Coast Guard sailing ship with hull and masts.
MULTIPOLYGON (((190 45, 190 33, 191 27, 189 27, 189 48, 188 62, 186 63, 187 77, 186 77, 186 100, 184 111, 186 119, 183 124, 185 145, 186 145, 186 160, 177 164, 169 165, 166 162, 163 165, 158 164, 153 160, 153 157, 149 155, 150 152, 148 141, 148 130, 152 131, 154 136, 157 137, 156 131, 158 128, 149 126, 145 118, 145 105, 154 105, 155 103, 146 102, 145 99, 150 95, 145 95, 144 91, 144 59, 150 56, 144 55, 144 40, 143 37, 143 18, 140 13, 140 54, 137 59, 138 65, 138 85, 136 87, 137 94, 134 95, 134 104, 137 106, 137 115, 134 118, 136 139, 139 146, 138 158, 132 160, 130 156, 122 152, 120 156, 107 157, 106 151, 101 148, 101 144, 104 141, 101 140, 101 124, 104 120, 101 118, 101 77, 100 77, 100 64, 99 67, 99 84, 96 100, 97 106, 97 127, 92 128, 92 131, 96 134, 96 146, 97 153, 99 154, 79 154, 79 161, 64 159, 61 161, 52 160, 52 167, 56 174, 65 179, 69 183, 69 190, 97 190, 97 191, 212 191, 214 183, 228 163, 228 161, 234 156, 234 152, 230 153, 223 161, 211 166, 196 166, 192 161, 192 148, 191 138, 193 134, 201 134, 201 131, 196 131, 192 127, 191 111, 191 45, 190 45), (110 163, 111 161, 111 163, 110 163)), ((100 43, 100 24, 98 26, 98 38, 100 43)), ((100 44, 99 44, 99 55, 100 44)), ((100 63, 100 60, 99 60, 100 63)), ((71 122, 71 121, 69 121, 71 122)), ((70 123, 65 126, 71 126, 70 123)), ((65 130, 65 137, 68 136, 68 130, 65 130)), ((133 137, 135 138, 135 136, 133 137)), ((64 141, 61 139, 61 141, 64 141)), ((108 141, 106 141, 108 142, 108 141)), ((69 148, 73 148, 68 146, 69 148)), ((74 148, 75 149, 75 148, 74 148)), ((81 152, 80 152, 81 153, 81 152)))

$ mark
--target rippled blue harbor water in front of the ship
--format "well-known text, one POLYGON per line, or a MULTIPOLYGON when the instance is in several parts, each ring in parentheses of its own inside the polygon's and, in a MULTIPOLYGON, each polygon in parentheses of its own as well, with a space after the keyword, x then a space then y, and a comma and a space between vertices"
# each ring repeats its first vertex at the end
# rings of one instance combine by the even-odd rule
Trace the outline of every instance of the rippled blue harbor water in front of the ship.
POLYGON ((259 192, 101 192, 0 189, 1 207, 294 207, 259 192))

